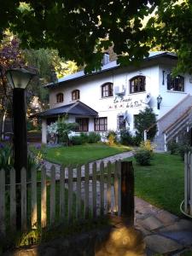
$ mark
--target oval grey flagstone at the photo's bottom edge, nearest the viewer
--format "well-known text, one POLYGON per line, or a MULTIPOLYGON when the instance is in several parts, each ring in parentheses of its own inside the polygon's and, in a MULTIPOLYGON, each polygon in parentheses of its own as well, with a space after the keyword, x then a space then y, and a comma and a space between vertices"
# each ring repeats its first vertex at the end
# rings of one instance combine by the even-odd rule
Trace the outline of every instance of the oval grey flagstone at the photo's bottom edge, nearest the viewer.
POLYGON ((160 235, 146 236, 144 241, 150 251, 154 253, 172 253, 181 250, 183 246, 172 239, 160 235))

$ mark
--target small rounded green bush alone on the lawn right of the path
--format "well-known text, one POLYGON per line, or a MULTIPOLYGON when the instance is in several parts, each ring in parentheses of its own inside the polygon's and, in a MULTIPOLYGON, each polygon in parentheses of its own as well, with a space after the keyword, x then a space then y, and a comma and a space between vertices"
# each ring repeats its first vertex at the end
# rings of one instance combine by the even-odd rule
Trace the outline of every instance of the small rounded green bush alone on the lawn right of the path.
POLYGON ((134 158, 140 166, 149 166, 152 156, 152 152, 144 148, 140 148, 134 153, 134 158))

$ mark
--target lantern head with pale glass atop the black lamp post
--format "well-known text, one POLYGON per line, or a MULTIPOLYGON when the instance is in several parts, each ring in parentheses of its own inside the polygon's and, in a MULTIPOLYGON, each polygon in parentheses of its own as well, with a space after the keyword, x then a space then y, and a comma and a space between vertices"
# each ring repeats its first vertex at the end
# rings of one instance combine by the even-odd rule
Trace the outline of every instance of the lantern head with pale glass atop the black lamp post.
POLYGON ((6 71, 6 77, 9 84, 13 89, 20 88, 26 89, 26 86, 30 83, 35 73, 31 73, 25 68, 10 68, 6 71))

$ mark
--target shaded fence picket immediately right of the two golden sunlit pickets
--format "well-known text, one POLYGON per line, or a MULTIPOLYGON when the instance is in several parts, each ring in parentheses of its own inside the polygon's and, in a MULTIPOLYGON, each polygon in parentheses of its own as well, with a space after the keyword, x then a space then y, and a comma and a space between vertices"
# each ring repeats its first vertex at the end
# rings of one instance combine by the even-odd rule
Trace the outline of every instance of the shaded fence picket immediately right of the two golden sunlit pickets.
POLYGON ((50 168, 50 224, 55 224, 55 166, 50 168))

